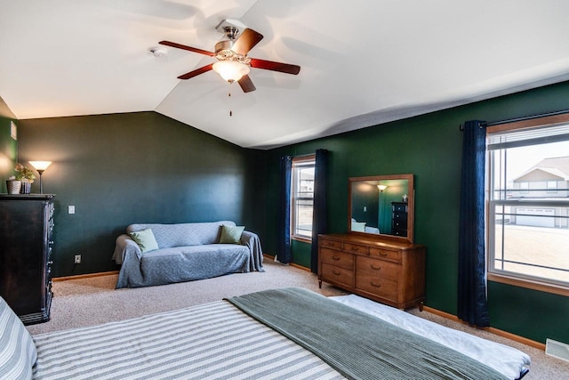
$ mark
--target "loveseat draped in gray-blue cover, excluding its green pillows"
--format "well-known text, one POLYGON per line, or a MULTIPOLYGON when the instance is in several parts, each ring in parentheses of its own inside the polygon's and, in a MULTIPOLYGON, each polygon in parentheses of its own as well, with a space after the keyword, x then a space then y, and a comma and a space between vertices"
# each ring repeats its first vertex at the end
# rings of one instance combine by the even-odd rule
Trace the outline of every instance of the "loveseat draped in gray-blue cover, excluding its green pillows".
POLYGON ((148 287, 209 279, 228 273, 263 271, 259 237, 244 230, 241 244, 220 244, 222 225, 235 222, 131 224, 116 239, 113 260, 121 264, 120 287, 148 287), (128 233, 152 230, 158 249, 142 253, 128 233))

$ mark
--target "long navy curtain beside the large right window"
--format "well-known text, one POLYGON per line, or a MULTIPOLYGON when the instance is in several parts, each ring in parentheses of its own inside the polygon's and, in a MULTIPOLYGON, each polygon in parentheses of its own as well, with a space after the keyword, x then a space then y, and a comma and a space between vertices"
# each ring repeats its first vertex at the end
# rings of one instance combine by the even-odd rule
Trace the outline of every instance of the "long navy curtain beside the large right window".
POLYGON ((459 223, 458 317, 478 327, 490 326, 485 277, 485 127, 464 124, 459 223))

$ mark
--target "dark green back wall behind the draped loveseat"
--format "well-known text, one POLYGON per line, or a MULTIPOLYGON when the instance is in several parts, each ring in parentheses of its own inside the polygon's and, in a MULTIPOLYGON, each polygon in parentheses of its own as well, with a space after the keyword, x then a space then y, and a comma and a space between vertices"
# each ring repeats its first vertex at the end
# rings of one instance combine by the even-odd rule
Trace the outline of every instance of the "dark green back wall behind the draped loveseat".
POLYGON ((155 112, 20 120, 19 150, 24 164, 53 161, 44 193, 57 195, 55 277, 117 270, 115 239, 133 222, 232 220, 264 232, 264 152, 155 112))

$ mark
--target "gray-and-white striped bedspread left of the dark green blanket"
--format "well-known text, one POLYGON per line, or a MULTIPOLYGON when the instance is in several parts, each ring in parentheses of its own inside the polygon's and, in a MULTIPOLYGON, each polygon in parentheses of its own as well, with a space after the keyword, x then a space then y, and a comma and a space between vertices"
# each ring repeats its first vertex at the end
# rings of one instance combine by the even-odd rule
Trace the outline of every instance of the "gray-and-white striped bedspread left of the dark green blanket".
POLYGON ((36 379, 343 378, 225 301, 33 338, 36 379))

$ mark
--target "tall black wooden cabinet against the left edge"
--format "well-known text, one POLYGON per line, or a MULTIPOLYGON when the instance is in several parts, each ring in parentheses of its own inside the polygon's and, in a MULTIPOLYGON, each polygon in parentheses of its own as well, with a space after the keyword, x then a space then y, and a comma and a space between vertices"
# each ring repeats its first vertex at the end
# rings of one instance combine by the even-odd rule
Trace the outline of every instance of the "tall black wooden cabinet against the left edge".
POLYGON ((0 295, 24 324, 52 304, 52 194, 0 194, 0 295))

